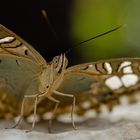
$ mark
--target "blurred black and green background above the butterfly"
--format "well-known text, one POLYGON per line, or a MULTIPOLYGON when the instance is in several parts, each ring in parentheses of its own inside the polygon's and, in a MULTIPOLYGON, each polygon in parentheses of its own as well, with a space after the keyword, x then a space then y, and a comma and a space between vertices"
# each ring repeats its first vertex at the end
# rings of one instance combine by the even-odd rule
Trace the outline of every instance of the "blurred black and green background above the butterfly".
POLYGON ((0 23, 33 45, 47 61, 121 24, 127 26, 73 49, 67 55, 70 64, 140 56, 139 0, 4 0, 0 7, 0 23))

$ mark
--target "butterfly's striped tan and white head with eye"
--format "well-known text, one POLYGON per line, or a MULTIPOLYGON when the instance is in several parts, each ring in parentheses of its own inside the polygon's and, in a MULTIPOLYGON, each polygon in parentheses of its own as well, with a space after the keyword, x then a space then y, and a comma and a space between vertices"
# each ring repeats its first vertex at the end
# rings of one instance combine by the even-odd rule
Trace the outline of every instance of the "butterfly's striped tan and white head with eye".
POLYGON ((65 56, 65 54, 61 54, 58 56, 55 56, 53 60, 51 61, 51 64, 53 64, 54 69, 57 73, 61 72, 63 68, 66 68, 68 65, 68 60, 65 56))

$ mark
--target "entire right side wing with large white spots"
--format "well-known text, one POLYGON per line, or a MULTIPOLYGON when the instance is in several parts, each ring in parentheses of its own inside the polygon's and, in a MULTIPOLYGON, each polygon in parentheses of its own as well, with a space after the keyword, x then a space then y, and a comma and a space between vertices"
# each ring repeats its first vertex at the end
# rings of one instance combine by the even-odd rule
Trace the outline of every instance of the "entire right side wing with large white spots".
MULTIPOLYGON (((80 113, 91 108, 100 112, 103 104, 111 110, 123 95, 128 96, 131 101, 137 100, 137 95, 140 95, 139 73, 139 58, 80 64, 66 70, 56 90, 75 95, 80 113)), ((61 111, 66 105, 70 105, 68 98, 59 97, 59 100, 64 103, 61 111)))

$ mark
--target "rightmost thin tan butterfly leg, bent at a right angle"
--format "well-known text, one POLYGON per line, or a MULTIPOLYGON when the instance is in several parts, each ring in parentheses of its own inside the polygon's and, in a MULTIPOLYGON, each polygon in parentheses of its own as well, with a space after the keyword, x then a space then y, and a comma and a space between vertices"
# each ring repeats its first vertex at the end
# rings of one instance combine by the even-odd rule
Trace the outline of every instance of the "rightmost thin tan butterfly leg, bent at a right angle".
POLYGON ((64 96, 64 97, 70 97, 73 98, 73 102, 72 102, 72 111, 71 111, 71 121, 72 121, 72 126, 73 128, 76 130, 76 126, 75 126, 75 122, 74 122, 74 118, 73 118, 73 114, 74 114, 74 109, 75 109, 75 96, 72 94, 64 94, 61 93, 59 91, 53 90, 53 93, 59 96, 64 96))

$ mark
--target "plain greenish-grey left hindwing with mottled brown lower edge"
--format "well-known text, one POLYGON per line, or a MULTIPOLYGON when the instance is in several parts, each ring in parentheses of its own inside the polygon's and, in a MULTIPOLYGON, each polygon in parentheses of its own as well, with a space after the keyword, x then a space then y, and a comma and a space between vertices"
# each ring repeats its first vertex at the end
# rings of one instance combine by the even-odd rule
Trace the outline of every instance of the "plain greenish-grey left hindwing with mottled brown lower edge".
MULTIPOLYGON (((24 95, 39 94, 41 67, 28 58, 0 54, 0 117, 19 115, 24 95)), ((25 114, 33 102, 26 107, 25 114)))

